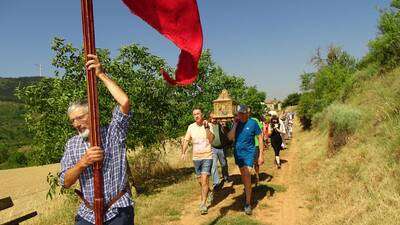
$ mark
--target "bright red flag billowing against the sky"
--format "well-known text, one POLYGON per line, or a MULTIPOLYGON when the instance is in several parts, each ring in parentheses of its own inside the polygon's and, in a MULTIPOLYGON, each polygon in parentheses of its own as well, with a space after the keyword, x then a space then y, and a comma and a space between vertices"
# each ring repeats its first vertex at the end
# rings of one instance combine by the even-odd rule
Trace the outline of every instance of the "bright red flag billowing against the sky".
POLYGON ((123 0, 128 8, 181 49, 172 85, 188 85, 198 74, 203 34, 196 0, 123 0))

